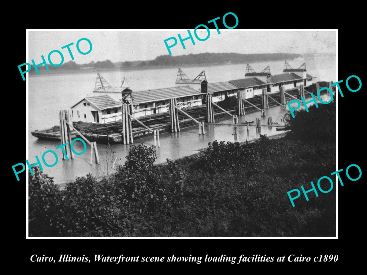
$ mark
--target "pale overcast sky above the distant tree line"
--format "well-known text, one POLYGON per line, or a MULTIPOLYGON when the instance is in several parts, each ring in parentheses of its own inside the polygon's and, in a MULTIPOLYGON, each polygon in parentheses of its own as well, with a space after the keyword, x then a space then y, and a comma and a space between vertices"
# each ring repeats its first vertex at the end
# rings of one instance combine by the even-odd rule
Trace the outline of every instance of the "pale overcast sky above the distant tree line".
MULTIPOLYGON (((191 30, 193 34, 193 30, 191 30)), ((335 32, 244 32, 238 30, 210 29, 210 37, 206 41, 196 40, 195 45, 186 40, 183 49, 177 34, 182 38, 188 37, 187 30, 175 31, 143 31, 143 32, 29 32, 29 60, 41 63, 41 55, 47 60, 48 53, 54 49, 64 55, 64 62, 71 60, 67 49, 62 46, 74 43, 70 47, 78 64, 110 59, 117 61, 134 61, 155 59, 159 55, 167 55, 168 51, 163 40, 176 37, 178 44, 171 48, 172 55, 199 54, 203 52, 236 52, 240 54, 253 53, 333 53, 335 54, 335 32), (77 52, 76 42, 86 37, 92 43, 92 51, 87 55, 77 52)), ((205 38, 207 32, 198 32, 205 38)), ((168 41, 170 45, 173 40, 168 41)), ((80 48, 88 50, 88 43, 82 41, 80 48)), ((57 64, 58 54, 52 54, 52 62, 57 64)))

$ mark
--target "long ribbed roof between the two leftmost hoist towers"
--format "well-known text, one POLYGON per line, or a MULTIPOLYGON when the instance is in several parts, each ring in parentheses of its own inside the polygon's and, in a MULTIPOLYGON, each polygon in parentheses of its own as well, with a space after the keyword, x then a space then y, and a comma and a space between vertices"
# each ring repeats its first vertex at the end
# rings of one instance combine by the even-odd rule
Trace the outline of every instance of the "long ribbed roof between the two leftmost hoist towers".
POLYGON ((193 96, 200 95, 196 89, 186 86, 178 86, 178 87, 170 87, 170 88, 161 88, 161 89, 153 89, 146 91, 132 91, 132 103, 140 104, 146 102, 157 102, 161 100, 167 100, 170 98, 182 98, 185 96, 193 96))

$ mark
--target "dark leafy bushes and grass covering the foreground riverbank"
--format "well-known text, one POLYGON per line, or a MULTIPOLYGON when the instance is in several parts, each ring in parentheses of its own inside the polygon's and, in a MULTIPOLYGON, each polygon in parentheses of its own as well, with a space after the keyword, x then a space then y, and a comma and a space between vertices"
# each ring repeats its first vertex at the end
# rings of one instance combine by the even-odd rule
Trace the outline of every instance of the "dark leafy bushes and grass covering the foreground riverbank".
MULTIPOLYGON (((30 236, 335 236, 335 191, 295 207, 287 191, 335 170, 335 103, 299 111, 285 137, 212 142, 199 155, 155 165, 133 146, 108 179, 60 191, 29 175, 30 236)), ((308 189, 308 188, 306 188, 308 189)))

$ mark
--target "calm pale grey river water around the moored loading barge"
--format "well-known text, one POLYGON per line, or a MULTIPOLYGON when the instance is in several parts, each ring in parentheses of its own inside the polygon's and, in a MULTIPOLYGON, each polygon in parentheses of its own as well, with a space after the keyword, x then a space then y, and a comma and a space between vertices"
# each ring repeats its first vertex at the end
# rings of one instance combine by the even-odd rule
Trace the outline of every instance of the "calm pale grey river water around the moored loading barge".
MULTIPOLYGON (((317 81, 335 81, 335 58, 330 56, 318 56, 315 59, 307 60, 288 60, 292 67, 298 67, 303 62, 306 62, 307 73, 316 76, 317 81)), ((272 74, 280 74, 283 71, 284 61, 257 62, 251 63, 255 71, 261 71, 266 66, 270 65, 272 74)), ((246 64, 237 65, 218 65, 218 66, 192 66, 182 67, 182 70, 189 78, 194 78, 202 70, 205 70, 208 82, 228 81, 233 79, 243 78, 245 74, 246 64)), ((133 91, 141 91, 147 89, 164 88, 175 86, 177 76, 177 68, 164 69, 147 69, 147 70, 127 70, 127 71, 101 71, 102 76, 113 87, 119 86, 121 80, 126 77, 130 88, 133 91)), ((75 159, 62 161, 61 150, 55 150, 55 147, 60 145, 60 142, 39 140, 31 135, 31 131, 42 130, 59 125, 58 115, 59 110, 70 109, 85 96, 93 95, 96 72, 77 72, 70 74, 54 74, 43 72, 39 76, 29 77, 29 162, 36 161, 35 155, 41 159, 42 154, 46 150, 54 150, 58 154, 59 161, 54 167, 43 165, 44 172, 49 176, 54 177, 57 184, 73 181, 76 177, 85 176, 87 173, 92 173, 94 176, 102 176, 110 173, 112 163, 116 160, 116 164, 123 164, 125 157, 131 145, 113 144, 98 144, 98 153, 100 165, 94 162, 90 165, 90 147, 82 155, 76 155, 75 159)), ((120 94, 109 94, 115 100, 120 99, 120 94)), ((273 122, 279 118, 280 125, 283 124, 280 120, 285 111, 280 106, 270 108, 266 112, 266 117, 261 118, 260 112, 246 114, 239 117, 239 121, 255 120, 261 118, 262 125, 266 125, 268 117, 271 116, 273 122)), ((216 121, 218 122, 218 121, 216 121)), ((232 118, 222 119, 219 123, 231 124, 232 118)), ((247 132, 246 126, 237 127, 237 136, 233 135, 233 126, 230 125, 206 125, 206 134, 199 136, 197 126, 181 129, 180 133, 161 133, 160 148, 157 148, 157 163, 165 162, 167 158, 177 159, 187 155, 195 154, 199 150, 206 148, 208 142, 213 140, 243 142, 256 139, 262 135, 276 135, 275 127, 264 126, 258 131, 254 126, 249 127, 247 132)), ((135 144, 144 143, 146 145, 153 144, 153 136, 145 137, 134 141, 135 144)), ((76 151, 82 151, 80 142, 75 143, 76 151)), ((94 157, 93 157, 94 159, 94 157)), ((46 162, 52 164, 55 158, 52 154, 46 155, 46 162)), ((115 164, 115 165, 116 165, 115 164)))

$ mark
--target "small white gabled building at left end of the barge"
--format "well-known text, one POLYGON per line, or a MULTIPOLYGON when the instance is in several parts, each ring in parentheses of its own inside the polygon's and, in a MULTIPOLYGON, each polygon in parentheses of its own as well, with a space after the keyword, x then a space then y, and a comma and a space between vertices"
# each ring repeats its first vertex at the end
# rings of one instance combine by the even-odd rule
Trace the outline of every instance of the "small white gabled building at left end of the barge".
POLYGON ((121 103, 108 95, 87 96, 71 108, 72 121, 107 123, 121 119, 121 103))

